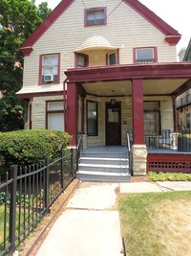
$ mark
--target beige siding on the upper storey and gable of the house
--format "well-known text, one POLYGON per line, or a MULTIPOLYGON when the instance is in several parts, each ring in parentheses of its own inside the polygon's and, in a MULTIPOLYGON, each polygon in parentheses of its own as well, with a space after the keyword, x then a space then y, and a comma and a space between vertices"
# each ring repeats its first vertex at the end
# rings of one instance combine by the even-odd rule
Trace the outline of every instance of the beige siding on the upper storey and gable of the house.
MULTIPOLYGON (((21 92, 40 92, 62 90, 64 71, 74 67, 74 51, 88 37, 101 35, 114 47, 119 48, 119 63, 133 62, 133 48, 155 46, 158 48, 159 62, 176 61, 176 47, 169 46, 164 40, 165 35, 145 20, 138 12, 132 10, 125 3, 117 7, 118 0, 91 0, 87 8, 107 7, 107 25, 84 27, 84 6, 82 1, 74 1, 32 46, 30 57, 25 58, 24 87, 21 92), (61 54, 60 84, 38 85, 39 56, 42 54, 61 54)), ((102 65, 106 62, 105 53, 100 56, 94 52, 90 58, 90 65, 102 65)))

